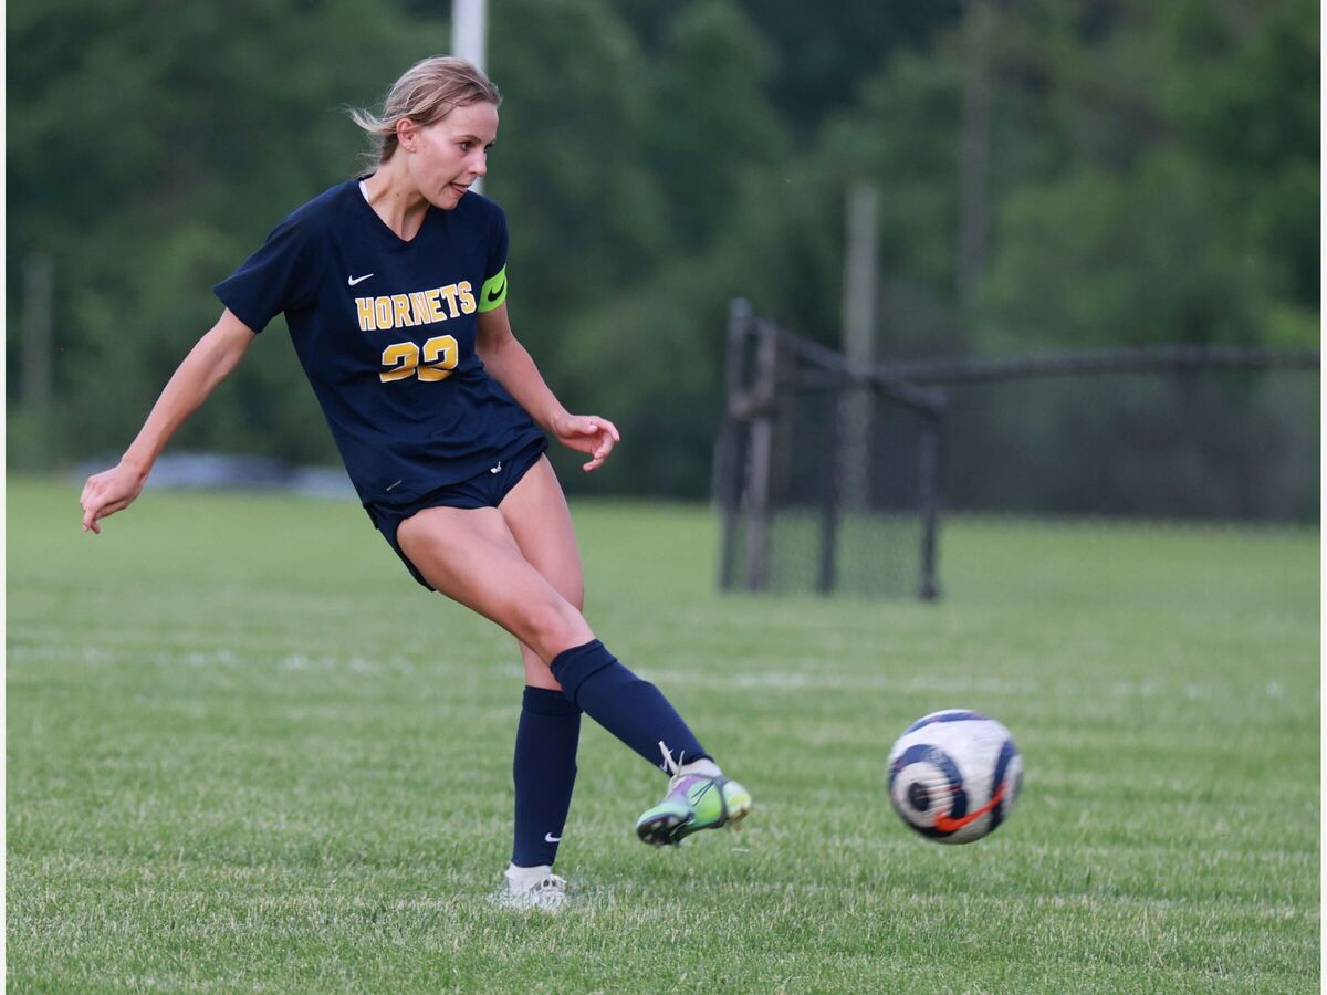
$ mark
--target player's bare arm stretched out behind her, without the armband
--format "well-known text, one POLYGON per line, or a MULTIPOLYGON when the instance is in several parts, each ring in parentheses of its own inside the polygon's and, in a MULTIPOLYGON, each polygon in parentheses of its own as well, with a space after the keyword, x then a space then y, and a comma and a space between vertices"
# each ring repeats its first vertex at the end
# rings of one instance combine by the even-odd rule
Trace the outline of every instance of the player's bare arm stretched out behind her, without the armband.
POLYGON ((84 532, 90 529, 101 535, 97 520, 133 503, 170 436, 235 369, 253 338, 256 336, 249 326, 228 308, 222 312, 220 320, 198 340, 166 383, 118 466, 88 478, 78 500, 84 509, 84 532))

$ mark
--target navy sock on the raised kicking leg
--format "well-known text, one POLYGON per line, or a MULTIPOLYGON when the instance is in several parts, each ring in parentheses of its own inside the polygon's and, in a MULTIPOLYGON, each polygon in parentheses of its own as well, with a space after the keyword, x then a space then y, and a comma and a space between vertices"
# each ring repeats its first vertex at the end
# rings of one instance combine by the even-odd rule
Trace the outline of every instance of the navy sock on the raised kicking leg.
POLYGON ((656 767, 667 769, 661 742, 678 764, 709 756, 667 698, 598 639, 559 653, 549 669, 568 699, 656 767))

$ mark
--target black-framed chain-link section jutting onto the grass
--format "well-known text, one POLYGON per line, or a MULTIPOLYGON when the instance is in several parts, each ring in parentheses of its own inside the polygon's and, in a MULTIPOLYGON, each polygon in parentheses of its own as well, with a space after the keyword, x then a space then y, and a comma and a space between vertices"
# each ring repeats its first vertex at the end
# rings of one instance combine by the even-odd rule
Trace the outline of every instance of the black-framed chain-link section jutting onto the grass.
POLYGON ((735 316, 721 586, 934 596, 940 398, 735 316))

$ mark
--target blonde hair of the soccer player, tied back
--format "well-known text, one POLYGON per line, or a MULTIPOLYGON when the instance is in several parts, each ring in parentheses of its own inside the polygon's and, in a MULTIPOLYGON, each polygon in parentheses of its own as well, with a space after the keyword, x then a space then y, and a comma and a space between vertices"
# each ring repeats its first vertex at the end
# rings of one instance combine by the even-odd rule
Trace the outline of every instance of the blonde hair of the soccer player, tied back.
POLYGON ((397 150, 397 122, 409 118, 421 127, 442 121, 456 107, 472 103, 502 103, 502 93, 492 80, 472 62, 455 56, 433 56, 415 62, 387 92, 382 117, 368 110, 350 109, 350 117, 373 143, 364 158, 381 166, 397 150))

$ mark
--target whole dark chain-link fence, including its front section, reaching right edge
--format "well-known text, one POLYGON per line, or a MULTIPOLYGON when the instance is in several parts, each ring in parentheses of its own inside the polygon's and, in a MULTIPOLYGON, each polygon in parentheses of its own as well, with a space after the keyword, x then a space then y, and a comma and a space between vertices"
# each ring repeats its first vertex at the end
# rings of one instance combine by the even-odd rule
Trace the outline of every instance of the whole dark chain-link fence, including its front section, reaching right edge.
POLYGON ((1316 350, 855 365, 734 305, 725 589, 938 594, 946 512, 1318 521, 1316 350))

